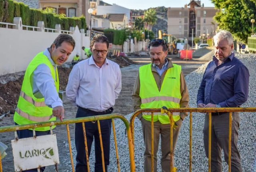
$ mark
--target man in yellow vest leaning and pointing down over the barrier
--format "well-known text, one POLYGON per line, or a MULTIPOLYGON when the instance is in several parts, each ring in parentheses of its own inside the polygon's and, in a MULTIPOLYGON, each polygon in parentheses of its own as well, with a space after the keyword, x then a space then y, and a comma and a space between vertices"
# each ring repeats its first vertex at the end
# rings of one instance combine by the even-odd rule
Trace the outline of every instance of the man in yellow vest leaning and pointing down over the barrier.
MULTIPOLYGON (((58 65, 62 65, 72 53, 75 41, 68 34, 60 34, 50 48, 38 53, 26 69, 14 122, 16 125, 36 122, 62 121, 64 108, 59 98, 58 65)), ((52 126, 55 128, 55 126, 52 126)), ((50 127, 35 128, 36 136, 50 134, 50 127)), ((33 130, 18 130, 19 138, 33 137, 33 130)), ((41 167, 40 171, 44 171, 41 167)), ((37 169, 25 172, 37 172, 37 169)))

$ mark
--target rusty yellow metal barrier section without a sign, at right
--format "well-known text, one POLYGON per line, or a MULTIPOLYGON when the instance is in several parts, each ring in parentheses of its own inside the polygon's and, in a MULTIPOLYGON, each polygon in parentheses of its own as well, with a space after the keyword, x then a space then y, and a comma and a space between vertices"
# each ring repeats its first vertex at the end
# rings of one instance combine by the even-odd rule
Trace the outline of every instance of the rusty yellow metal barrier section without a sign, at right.
MULTIPOLYGON (((132 142, 134 145, 134 120, 136 116, 141 114, 142 112, 148 112, 151 113, 151 119, 153 119, 154 112, 162 112, 166 113, 170 118, 170 157, 173 156, 173 150, 172 150, 172 126, 173 126, 173 119, 172 119, 172 113, 173 112, 189 112, 190 115, 190 142, 189 142, 189 171, 192 172, 192 112, 201 112, 201 113, 208 113, 209 114, 209 158, 208 158, 208 172, 211 172, 211 126, 212 126, 212 112, 229 112, 229 151, 228 151, 228 172, 231 172, 231 129, 232 129, 232 112, 256 112, 256 108, 170 108, 168 110, 161 109, 161 108, 153 108, 153 109, 140 109, 134 112, 134 115, 130 119, 130 128, 132 132, 132 142)), ((154 122, 151 120, 151 145, 152 145, 152 151, 151 151, 151 171, 154 172, 154 122)), ((135 145, 134 145, 135 146, 135 145)), ((182 169, 183 171, 184 169, 182 169)), ((176 168, 172 165, 172 158, 170 158, 170 171, 176 171, 176 168)))

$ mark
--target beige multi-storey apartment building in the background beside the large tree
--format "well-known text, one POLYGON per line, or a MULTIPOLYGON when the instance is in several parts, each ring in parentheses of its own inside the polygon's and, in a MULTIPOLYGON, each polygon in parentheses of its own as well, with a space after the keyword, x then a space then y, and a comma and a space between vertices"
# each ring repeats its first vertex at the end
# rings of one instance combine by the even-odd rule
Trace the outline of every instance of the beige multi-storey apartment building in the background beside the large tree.
POLYGON ((217 29, 213 17, 217 10, 204 7, 200 0, 190 0, 182 8, 168 8, 168 34, 176 38, 212 37, 217 29))

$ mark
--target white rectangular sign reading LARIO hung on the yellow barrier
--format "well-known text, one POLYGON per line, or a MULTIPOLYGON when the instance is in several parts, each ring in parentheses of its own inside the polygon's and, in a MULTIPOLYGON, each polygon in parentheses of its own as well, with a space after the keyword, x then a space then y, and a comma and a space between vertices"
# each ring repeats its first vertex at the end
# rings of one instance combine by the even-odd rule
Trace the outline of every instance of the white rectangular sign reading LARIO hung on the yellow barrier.
POLYGON ((56 134, 12 140, 14 170, 59 164, 56 134))

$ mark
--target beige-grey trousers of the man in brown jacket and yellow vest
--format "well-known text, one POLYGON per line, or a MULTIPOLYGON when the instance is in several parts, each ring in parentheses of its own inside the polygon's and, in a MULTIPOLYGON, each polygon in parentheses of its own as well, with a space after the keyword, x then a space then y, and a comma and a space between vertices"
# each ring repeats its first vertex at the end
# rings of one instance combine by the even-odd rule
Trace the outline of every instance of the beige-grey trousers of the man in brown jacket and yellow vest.
MULTIPOLYGON (((142 123, 142 132, 145 144, 144 172, 151 172, 151 122, 145 120, 143 117, 140 120, 142 123)), ((176 124, 178 127, 173 130, 173 152, 180 132, 180 127, 182 125, 182 120, 178 120, 176 124)), ((162 172, 170 172, 170 124, 161 124, 159 121, 154 122, 154 172, 157 172, 156 154, 158 151, 160 135, 162 172)))

